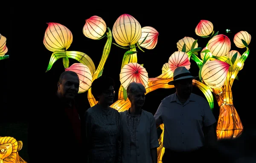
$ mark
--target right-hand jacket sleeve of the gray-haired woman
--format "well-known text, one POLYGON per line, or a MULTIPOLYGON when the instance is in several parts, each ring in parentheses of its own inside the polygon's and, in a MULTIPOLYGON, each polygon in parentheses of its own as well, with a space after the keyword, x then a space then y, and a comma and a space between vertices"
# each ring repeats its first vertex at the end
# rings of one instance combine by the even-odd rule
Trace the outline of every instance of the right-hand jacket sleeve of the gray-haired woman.
POLYGON ((153 114, 150 116, 150 149, 159 147, 157 138, 157 127, 153 114))

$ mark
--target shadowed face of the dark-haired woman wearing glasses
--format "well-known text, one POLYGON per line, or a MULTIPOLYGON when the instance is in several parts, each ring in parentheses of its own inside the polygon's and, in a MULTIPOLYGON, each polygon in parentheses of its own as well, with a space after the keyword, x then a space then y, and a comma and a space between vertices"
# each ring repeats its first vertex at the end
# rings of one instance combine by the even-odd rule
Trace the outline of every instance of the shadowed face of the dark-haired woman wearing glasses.
POLYGON ((113 86, 109 86, 107 90, 105 90, 104 92, 102 92, 102 94, 99 95, 99 102, 108 104, 108 106, 110 106, 113 103, 114 96, 115 90, 113 86))

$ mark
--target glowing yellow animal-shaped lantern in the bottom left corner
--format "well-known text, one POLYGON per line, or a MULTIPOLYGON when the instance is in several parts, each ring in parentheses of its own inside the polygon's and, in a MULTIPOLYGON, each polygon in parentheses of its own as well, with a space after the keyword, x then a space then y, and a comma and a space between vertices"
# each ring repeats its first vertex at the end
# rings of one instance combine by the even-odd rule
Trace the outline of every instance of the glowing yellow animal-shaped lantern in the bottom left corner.
POLYGON ((14 137, 0 137, 0 163, 27 163, 19 155, 22 147, 22 141, 14 137))

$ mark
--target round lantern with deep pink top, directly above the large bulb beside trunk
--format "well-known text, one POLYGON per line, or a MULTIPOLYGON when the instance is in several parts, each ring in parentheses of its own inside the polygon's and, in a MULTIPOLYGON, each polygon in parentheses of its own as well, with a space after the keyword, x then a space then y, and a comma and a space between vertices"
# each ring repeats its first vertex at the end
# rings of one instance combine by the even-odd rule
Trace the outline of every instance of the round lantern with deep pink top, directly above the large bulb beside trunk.
POLYGON ((221 57, 230 51, 231 42, 224 34, 218 34, 209 40, 207 47, 212 52, 213 56, 221 57))

